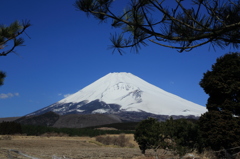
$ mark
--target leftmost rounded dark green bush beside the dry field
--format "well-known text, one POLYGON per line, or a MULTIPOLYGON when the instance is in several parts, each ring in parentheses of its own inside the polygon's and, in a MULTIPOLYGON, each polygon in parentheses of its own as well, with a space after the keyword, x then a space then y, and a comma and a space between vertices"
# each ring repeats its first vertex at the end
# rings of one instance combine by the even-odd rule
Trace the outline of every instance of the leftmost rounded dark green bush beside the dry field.
POLYGON ((162 140, 160 123, 154 118, 141 121, 136 127, 134 139, 143 154, 145 154, 146 149, 158 149, 162 140))

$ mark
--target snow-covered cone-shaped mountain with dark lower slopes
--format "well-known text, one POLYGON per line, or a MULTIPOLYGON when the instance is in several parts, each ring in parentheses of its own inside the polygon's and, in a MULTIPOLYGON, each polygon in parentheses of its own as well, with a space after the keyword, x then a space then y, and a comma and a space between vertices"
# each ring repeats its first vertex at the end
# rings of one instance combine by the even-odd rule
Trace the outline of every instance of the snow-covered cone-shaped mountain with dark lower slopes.
POLYGON ((205 113, 201 105, 158 88, 131 73, 109 73, 78 92, 30 115, 147 113, 195 116, 205 113))

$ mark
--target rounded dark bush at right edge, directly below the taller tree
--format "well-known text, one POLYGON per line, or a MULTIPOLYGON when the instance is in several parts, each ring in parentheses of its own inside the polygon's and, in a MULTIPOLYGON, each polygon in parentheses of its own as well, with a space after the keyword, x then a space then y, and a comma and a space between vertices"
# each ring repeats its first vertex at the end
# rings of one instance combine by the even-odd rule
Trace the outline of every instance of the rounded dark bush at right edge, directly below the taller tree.
POLYGON ((204 146, 212 150, 240 145, 240 119, 229 111, 209 111, 199 120, 204 146))

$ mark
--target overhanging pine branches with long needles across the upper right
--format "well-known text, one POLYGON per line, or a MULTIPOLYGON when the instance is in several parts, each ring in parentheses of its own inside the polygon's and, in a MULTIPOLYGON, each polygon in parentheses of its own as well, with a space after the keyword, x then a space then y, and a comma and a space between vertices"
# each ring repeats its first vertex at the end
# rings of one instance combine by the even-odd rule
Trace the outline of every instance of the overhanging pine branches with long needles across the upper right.
POLYGON ((112 34, 112 48, 138 51, 148 42, 179 52, 211 43, 239 47, 240 1, 225 0, 129 0, 121 13, 114 12, 114 0, 76 0, 77 9, 101 22, 120 28, 112 34), (187 5, 191 4, 191 5, 187 5))

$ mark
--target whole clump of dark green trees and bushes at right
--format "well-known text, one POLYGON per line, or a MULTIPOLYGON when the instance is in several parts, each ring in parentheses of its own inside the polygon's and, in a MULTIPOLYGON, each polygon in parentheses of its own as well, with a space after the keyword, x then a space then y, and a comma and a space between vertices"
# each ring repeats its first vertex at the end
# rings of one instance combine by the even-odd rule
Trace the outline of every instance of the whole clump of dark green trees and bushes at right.
POLYGON ((208 111, 197 123, 186 120, 142 121, 135 140, 146 149, 168 148, 180 155, 198 150, 221 151, 234 156, 240 152, 240 53, 229 53, 216 60, 204 73, 201 87, 209 95, 208 111), (236 149, 235 149, 236 148, 236 149))

